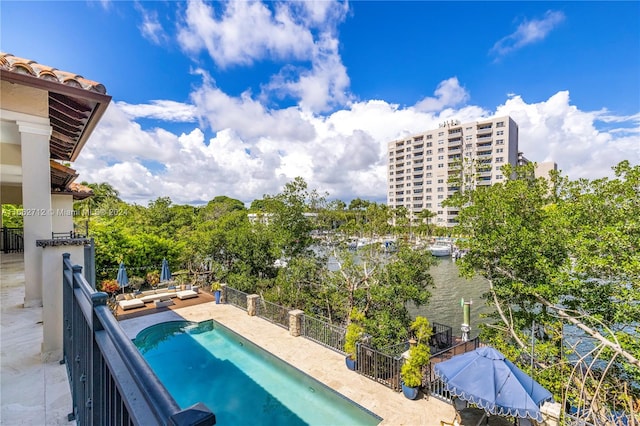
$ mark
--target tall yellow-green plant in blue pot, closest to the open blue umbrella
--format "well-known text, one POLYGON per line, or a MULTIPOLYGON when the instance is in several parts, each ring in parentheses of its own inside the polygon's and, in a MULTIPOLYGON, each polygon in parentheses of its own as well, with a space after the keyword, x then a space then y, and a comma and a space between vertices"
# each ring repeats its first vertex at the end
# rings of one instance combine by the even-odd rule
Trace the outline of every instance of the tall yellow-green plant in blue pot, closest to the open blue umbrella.
POLYGON ((415 335, 415 340, 411 341, 409 356, 402 364, 400 374, 402 393, 409 399, 416 399, 420 386, 422 386, 424 367, 429 364, 431 357, 428 342, 432 329, 428 319, 418 316, 411 324, 411 330, 415 335))

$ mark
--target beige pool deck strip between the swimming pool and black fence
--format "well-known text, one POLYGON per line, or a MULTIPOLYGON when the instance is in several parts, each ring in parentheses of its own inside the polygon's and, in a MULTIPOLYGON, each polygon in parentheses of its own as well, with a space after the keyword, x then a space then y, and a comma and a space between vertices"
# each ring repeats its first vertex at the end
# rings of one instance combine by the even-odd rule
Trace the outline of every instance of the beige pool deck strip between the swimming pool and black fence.
MULTIPOLYGON (((262 318, 251 317, 231 305, 203 303, 121 321, 127 335, 134 338, 151 325, 175 320, 214 319, 263 349, 304 371, 369 411, 382 417, 381 425, 440 425, 451 422, 455 411, 436 398, 411 401, 401 392, 367 379, 347 369, 344 356, 262 318)), ((210 407, 214 410, 214 407, 210 407)))

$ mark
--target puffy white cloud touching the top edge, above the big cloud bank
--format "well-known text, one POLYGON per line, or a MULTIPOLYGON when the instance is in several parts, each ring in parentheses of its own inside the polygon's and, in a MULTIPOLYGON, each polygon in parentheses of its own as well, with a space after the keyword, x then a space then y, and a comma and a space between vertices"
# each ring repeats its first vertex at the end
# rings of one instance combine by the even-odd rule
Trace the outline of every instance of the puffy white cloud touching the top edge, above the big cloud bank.
POLYGON ((313 112, 347 104, 349 77, 338 51, 336 26, 347 3, 280 2, 273 10, 256 2, 189 2, 178 42, 189 53, 206 50, 221 68, 257 61, 281 64, 262 96, 292 96, 313 112), (310 64, 310 66, 309 66, 310 64))

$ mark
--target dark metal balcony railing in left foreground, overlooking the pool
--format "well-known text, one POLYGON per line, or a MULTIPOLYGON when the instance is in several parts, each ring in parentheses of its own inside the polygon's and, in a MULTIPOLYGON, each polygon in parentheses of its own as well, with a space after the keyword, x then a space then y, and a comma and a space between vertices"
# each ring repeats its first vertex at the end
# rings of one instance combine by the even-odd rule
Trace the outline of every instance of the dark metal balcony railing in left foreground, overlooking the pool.
POLYGON ((63 360, 78 425, 214 425, 202 403, 180 409, 97 292, 63 255, 63 360))

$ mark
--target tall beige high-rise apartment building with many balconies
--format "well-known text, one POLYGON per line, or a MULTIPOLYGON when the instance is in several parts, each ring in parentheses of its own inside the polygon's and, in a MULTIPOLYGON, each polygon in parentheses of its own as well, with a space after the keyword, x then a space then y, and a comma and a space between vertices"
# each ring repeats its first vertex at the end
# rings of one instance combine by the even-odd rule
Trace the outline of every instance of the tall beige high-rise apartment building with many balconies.
POLYGON ((442 202, 458 191, 505 179, 500 168, 518 161, 518 125, 509 116, 448 121, 389 142, 388 156, 387 204, 404 206, 413 220, 427 209, 435 214, 432 223, 454 226, 458 211, 442 202))

